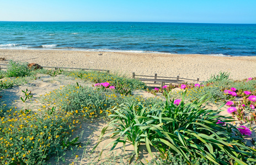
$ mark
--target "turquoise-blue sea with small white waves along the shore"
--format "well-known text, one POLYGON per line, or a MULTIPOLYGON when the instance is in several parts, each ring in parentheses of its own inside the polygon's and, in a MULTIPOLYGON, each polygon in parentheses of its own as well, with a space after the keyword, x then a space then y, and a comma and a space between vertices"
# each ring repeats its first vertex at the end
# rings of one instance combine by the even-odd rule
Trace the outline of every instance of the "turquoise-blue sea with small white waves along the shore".
POLYGON ((0 49, 256 56, 256 24, 0 21, 0 49))

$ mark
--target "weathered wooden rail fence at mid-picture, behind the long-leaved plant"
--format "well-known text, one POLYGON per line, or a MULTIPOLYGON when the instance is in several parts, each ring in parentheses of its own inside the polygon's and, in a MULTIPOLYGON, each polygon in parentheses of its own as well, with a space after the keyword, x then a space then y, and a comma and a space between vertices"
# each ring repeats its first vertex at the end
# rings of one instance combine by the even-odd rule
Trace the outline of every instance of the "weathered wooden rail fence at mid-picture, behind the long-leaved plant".
MULTIPOLYGON (((133 79, 135 79, 135 76, 140 77, 140 78, 137 78, 138 80, 153 82, 153 83, 146 83, 146 84, 161 85, 161 87, 163 87, 166 83, 169 83, 169 84, 173 84, 173 83, 174 84, 183 84, 183 83, 185 83, 185 80, 198 81, 199 82, 199 78, 194 80, 194 79, 180 78, 179 76, 177 76, 175 78, 174 77, 165 77, 165 76, 157 76, 157 73, 154 74, 154 76, 136 75, 135 73, 132 73, 132 78, 133 79), (141 78, 141 77, 143 77, 143 78, 141 78)), ((151 87, 156 87, 156 86, 151 86, 151 87)))

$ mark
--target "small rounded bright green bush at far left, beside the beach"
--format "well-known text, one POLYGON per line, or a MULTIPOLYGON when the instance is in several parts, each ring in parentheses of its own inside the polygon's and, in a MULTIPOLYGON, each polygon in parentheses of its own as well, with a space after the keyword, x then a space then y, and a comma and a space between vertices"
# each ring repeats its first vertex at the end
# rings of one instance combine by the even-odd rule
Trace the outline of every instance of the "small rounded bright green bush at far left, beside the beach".
POLYGON ((28 68, 28 63, 15 62, 10 60, 8 63, 7 77, 24 77, 30 75, 31 69, 28 68))

